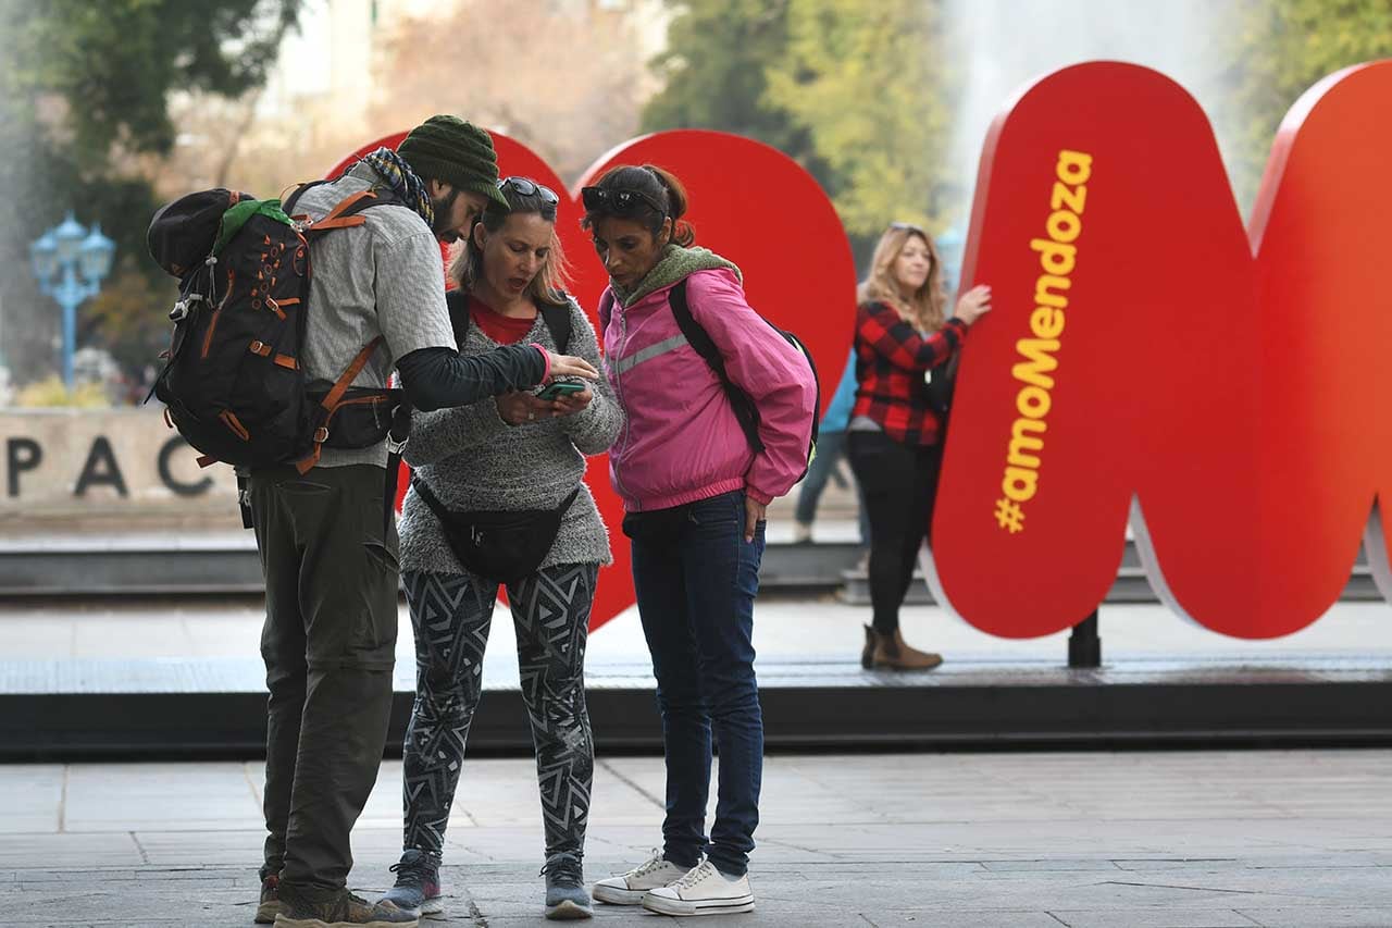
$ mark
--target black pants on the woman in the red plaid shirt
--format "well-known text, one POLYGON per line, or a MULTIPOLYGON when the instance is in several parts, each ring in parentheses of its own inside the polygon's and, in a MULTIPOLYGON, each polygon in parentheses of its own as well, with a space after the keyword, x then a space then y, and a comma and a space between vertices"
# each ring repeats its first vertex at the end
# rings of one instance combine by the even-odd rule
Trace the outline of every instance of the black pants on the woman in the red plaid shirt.
POLYGON ((941 461, 937 444, 902 444, 884 432, 851 433, 851 468, 870 514, 870 605, 880 634, 899 627, 919 548, 930 539, 941 461))

